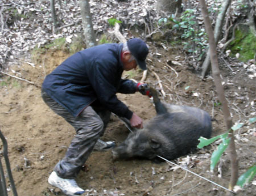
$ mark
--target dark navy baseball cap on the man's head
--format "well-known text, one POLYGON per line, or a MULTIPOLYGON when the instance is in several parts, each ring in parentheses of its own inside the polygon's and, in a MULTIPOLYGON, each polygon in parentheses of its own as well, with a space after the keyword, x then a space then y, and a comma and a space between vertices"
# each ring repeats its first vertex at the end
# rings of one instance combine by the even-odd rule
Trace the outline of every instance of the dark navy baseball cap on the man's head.
POLYGON ((148 54, 148 48, 144 41, 139 38, 133 38, 127 41, 127 46, 131 54, 135 57, 137 64, 142 70, 146 70, 146 57, 148 54))

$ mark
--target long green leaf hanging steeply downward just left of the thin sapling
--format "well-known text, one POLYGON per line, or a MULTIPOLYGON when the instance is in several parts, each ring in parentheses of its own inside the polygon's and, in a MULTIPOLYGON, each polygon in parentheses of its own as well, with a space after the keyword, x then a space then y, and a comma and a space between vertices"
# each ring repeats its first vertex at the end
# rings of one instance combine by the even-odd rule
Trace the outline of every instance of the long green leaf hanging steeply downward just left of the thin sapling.
POLYGON ((218 161, 220 160, 221 155, 226 150, 226 148, 229 146, 230 138, 223 139, 222 143, 218 145, 218 148, 216 151, 213 152, 212 157, 210 159, 210 171, 213 171, 215 166, 217 165, 218 161))

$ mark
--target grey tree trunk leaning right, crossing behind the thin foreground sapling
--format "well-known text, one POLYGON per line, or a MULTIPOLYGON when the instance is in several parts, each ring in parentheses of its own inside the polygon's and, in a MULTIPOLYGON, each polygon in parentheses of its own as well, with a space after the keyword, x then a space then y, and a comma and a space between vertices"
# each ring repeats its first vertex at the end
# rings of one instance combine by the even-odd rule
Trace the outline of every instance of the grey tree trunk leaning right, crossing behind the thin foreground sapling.
MULTIPOLYGON (((223 5, 221 6, 220 13, 218 14, 218 17, 216 20, 216 25, 214 28, 215 45, 217 45, 218 40, 220 39, 222 26, 223 26, 224 19, 225 19, 225 14, 229 8, 230 3, 231 3, 231 0, 224 0, 223 5)), ((210 66, 210 50, 208 49, 207 57, 204 59, 204 63, 202 66, 202 73, 201 73, 202 78, 204 78, 205 75, 209 72, 209 66, 210 66)))

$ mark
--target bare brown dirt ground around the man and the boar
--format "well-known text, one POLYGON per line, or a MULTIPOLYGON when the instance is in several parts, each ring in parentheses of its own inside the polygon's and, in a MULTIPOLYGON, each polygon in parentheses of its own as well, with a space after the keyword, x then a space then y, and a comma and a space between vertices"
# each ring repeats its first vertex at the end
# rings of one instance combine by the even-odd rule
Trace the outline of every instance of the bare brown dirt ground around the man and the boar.
MULTIPOLYGON (((197 106, 206 110, 216 120, 213 121, 213 135, 224 133, 225 123, 221 108, 214 106, 218 98, 212 77, 201 80, 191 66, 184 65, 182 54, 174 51, 175 49, 167 52, 160 47, 151 47, 146 82, 159 88, 158 79, 154 74, 156 73, 166 93, 166 96, 162 97, 163 101, 197 106), (166 65, 167 60, 172 69, 166 65), (170 63, 171 60, 178 61, 181 65, 174 65, 170 63), (188 89, 185 88, 188 86, 188 89)), ((44 76, 68 56, 69 54, 63 51, 48 52, 42 54, 40 61, 34 62, 35 67, 20 62, 11 66, 8 73, 40 86, 44 76)), ((242 66, 232 67, 232 72, 224 63, 220 63, 220 69, 233 122, 245 123, 236 135, 241 175, 256 163, 255 123, 251 125, 248 122, 249 118, 255 116, 255 106, 252 102, 256 101, 256 83, 255 79, 247 77, 242 66)), ((142 76, 140 71, 126 74, 132 75, 136 80, 140 80, 142 76)), ((9 76, 0 79, 0 128, 9 144, 9 159, 18 194, 63 195, 59 189, 48 184, 47 178, 57 161, 64 156, 75 131, 43 103, 39 87, 9 76)), ((135 93, 118 97, 145 121, 155 116, 154 106, 147 96, 135 93)), ((102 140, 115 140, 119 144, 128 134, 129 130, 113 116, 102 140)), ((227 153, 222 156, 220 171, 209 171, 210 154, 216 147, 216 144, 213 144, 195 154, 173 161, 228 188, 230 160, 227 153)), ((0 144, 1 151, 2 148, 0 144)), ((77 183, 86 189, 85 195, 226 194, 224 189, 192 173, 177 169, 172 164, 152 163, 150 160, 141 159, 113 161, 111 151, 94 151, 80 172, 77 183)), ((238 195, 256 195, 255 190, 256 186, 249 184, 238 195)), ((11 190, 9 194, 13 194, 11 190)))

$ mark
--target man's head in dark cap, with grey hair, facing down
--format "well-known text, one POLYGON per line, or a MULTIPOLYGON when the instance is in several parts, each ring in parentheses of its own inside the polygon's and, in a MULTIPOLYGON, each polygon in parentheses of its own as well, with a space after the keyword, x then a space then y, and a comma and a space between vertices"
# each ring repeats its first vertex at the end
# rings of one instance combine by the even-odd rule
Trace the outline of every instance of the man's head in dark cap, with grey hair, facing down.
POLYGON ((123 69, 129 71, 131 69, 136 69, 137 65, 142 70, 146 70, 146 57, 148 54, 148 46, 144 41, 138 38, 130 39, 125 44, 123 44, 122 50, 122 62, 123 69))

